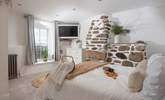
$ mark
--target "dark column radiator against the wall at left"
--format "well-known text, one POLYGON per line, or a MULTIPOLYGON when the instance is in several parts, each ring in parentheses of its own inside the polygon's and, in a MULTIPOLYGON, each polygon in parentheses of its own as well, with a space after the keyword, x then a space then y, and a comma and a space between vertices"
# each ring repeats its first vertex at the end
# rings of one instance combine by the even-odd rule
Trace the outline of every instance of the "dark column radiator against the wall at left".
POLYGON ((8 77, 9 80, 17 78, 17 55, 8 55, 8 77))

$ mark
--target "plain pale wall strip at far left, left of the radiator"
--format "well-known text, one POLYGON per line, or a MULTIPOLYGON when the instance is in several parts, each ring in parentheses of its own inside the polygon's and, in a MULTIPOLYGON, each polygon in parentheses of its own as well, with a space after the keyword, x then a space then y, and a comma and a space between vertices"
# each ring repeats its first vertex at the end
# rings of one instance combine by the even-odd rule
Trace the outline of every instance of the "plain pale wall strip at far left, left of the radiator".
POLYGON ((0 100, 9 100, 8 91, 8 8, 0 5, 0 100))

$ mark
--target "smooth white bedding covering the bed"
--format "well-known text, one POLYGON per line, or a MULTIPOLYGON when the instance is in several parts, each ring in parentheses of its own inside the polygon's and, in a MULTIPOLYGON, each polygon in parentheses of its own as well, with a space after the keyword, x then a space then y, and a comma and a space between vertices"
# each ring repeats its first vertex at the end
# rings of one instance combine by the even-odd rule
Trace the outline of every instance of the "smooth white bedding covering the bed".
POLYGON ((139 93, 128 91, 127 78, 132 68, 110 66, 119 74, 116 80, 98 68, 66 80, 60 91, 56 91, 51 82, 45 82, 38 89, 36 100, 143 100, 139 93))

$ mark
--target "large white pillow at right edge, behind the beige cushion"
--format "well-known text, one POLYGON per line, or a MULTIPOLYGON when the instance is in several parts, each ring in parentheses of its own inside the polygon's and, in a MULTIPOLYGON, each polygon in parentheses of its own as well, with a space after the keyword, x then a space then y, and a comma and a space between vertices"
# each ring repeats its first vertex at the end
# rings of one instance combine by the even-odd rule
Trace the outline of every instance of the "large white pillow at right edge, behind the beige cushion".
POLYGON ((144 100, 160 100, 165 95, 165 56, 155 54, 148 60, 141 95, 144 100))

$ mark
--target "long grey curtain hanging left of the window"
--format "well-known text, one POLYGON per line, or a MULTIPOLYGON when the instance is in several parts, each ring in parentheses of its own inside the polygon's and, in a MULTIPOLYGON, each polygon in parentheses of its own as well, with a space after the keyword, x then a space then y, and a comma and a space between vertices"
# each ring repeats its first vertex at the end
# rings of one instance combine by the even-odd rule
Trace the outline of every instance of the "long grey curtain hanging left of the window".
POLYGON ((37 62, 36 58, 36 46, 35 46, 35 34, 34 34, 34 16, 28 15, 27 18, 27 26, 28 26, 28 34, 27 34, 27 47, 26 47, 26 65, 32 65, 37 62))

